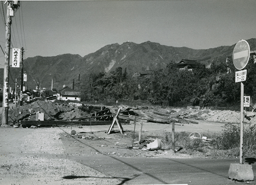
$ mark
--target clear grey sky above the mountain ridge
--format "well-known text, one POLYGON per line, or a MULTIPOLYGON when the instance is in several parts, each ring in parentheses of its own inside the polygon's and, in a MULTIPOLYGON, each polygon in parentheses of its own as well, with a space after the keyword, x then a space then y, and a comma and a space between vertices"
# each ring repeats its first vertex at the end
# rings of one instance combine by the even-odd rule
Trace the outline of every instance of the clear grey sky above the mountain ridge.
MULTIPOLYGON (((0 46, 6 8, 0 2, 0 46)), ((11 23, 11 48, 25 58, 79 54, 108 44, 146 41, 209 49, 256 38, 255 0, 21 1, 11 23)), ((4 54, 0 51, 0 68, 4 54)))

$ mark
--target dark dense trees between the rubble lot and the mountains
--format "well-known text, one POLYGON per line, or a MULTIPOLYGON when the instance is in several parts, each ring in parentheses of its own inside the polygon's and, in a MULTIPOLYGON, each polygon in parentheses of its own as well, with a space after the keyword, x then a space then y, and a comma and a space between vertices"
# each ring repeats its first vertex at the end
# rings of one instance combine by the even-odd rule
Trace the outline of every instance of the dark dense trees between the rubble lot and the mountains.
MULTIPOLYGON (((256 98, 256 65, 250 58, 245 95, 256 98)), ((198 64, 193 71, 179 70, 174 62, 146 76, 115 71, 87 74, 80 83, 82 100, 147 100, 156 105, 233 106, 240 103, 240 83, 235 83, 232 58, 213 60, 210 68, 198 64)))

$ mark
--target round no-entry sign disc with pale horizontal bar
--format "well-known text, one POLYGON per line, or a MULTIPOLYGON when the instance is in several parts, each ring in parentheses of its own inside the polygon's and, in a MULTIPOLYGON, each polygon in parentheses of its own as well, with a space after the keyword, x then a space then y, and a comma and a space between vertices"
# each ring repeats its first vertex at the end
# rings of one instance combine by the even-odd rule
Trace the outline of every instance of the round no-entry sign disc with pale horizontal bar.
POLYGON ((250 57, 250 46, 246 40, 240 40, 233 50, 233 64, 238 69, 244 69, 250 57))

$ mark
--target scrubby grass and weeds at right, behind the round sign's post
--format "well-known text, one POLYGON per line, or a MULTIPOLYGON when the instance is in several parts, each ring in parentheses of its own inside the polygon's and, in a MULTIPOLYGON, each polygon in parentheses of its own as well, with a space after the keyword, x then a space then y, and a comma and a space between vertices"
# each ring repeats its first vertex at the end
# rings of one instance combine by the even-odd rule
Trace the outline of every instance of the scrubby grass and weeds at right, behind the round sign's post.
MULTIPOLYGON (((256 157, 256 125, 245 125, 243 156, 256 157)), ((240 125, 227 123, 222 134, 208 135, 211 141, 190 138, 188 132, 175 133, 175 149, 186 154, 200 153, 211 158, 237 158, 240 156, 240 125)), ((163 149, 172 149, 172 133, 162 133, 163 149)))

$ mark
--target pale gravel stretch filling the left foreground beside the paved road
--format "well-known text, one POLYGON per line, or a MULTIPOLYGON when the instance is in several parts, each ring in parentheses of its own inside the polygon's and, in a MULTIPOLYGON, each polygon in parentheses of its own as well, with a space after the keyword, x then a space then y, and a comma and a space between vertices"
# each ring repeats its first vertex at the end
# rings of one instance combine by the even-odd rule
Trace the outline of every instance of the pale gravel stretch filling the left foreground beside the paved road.
POLYGON ((0 128, 2 185, 117 185, 120 180, 68 160, 55 128, 0 128))

